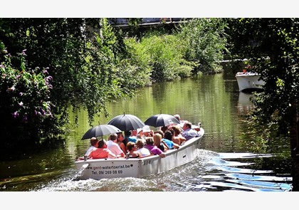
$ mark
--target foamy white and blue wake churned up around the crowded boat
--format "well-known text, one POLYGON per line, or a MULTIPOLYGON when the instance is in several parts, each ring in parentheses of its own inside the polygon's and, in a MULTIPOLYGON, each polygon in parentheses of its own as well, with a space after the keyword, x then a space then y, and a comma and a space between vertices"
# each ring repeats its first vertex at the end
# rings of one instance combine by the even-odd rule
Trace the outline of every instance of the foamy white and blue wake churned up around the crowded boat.
POLYGON ((33 191, 291 191, 290 174, 259 169, 272 154, 217 153, 197 149, 194 161, 143 179, 80 179, 80 171, 33 191), (75 174, 75 176, 74 176, 75 174))

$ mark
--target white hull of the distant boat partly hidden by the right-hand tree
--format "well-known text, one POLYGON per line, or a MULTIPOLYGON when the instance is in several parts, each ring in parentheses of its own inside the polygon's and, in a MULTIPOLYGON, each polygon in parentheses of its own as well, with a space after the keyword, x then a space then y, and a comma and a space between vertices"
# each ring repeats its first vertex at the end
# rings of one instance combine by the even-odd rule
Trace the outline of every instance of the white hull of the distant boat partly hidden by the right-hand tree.
POLYGON ((238 72, 236 73, 236 80, 238 82, 238 89, 240 91, 251 89, 263 89, 264 81, 259 80, 260 75, 252 72, 238 72))

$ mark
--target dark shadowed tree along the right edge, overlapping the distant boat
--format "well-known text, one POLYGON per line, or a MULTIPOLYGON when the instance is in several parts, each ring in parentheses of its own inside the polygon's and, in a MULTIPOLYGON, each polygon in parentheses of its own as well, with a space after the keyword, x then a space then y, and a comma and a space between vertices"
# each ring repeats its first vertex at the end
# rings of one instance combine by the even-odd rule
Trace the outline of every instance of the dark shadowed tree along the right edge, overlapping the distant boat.
POLYGON ((299 19, 229 19, 231 54, 250 58, 266 82, 258 93, 252 119, 256 125, 277 125, 290 138, 293 190, 299 190, 299 19))

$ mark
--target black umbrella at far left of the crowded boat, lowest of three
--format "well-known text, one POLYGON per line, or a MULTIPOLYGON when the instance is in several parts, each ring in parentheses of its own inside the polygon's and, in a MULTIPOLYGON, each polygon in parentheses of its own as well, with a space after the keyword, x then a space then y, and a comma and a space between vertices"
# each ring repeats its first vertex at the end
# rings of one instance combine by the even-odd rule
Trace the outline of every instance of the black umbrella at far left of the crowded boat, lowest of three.
POLYGON ((81 140, 90 139, 92 137, 103 137, 105 135, 109 135, 115 132, 122 132, 114 125, 97 125, 95 127, 90 128, 83 135, 81 140))

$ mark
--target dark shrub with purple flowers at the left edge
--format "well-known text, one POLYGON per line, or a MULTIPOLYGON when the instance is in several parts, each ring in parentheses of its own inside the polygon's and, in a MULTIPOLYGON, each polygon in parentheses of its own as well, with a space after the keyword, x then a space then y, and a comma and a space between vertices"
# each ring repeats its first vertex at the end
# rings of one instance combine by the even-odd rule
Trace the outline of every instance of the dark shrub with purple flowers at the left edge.
POLYGON ((0 113, 4 120, 1 141, 14 139, 36 140, 44 132, 46 120, 51 114, 51 75, 47 69, 26 69, 26 50, 19 53, 20 68, 11 65, 10 54, 0 65, 0 113), (32 132, 33 128, 33 132, 32 132))

